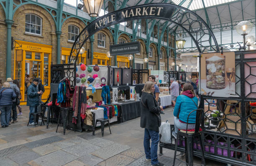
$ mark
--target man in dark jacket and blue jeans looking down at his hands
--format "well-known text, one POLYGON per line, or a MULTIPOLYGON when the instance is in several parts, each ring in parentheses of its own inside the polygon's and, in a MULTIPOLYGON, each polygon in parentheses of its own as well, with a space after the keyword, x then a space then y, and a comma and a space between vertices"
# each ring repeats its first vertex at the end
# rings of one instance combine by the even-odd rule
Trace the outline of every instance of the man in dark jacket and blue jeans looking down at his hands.
MULTIPOLYGON (((38 84, 38 79, 33 79, 33 83, 28 87, 27 92, 27 106, 29 106, 29 115, 37 112, 37 107, 39 105, 39 96, 43 94, 42 91, 38 92, 38 89, 36 88, 38 84)), ((34 122, 34 117, 31 116, 29 119, 29 124, 32 125, 34 122)))

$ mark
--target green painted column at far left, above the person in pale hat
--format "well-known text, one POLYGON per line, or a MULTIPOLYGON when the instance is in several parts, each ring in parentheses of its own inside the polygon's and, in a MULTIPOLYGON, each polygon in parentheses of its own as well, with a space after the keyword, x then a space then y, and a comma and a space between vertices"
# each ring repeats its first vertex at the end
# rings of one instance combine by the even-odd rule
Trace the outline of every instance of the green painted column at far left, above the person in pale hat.
POLYGON ((11 54, 12 54, 12 25, 13 20, 5 20, 7 25, 7 42, 6 42, 6 78, 11 77, 11 54))

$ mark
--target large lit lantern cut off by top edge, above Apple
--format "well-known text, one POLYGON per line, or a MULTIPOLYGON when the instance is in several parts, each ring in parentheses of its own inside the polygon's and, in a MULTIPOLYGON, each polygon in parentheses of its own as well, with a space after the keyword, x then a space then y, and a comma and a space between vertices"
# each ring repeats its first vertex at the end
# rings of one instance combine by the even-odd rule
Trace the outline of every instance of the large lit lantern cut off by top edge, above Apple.
POLYGON ((98 17, 103 0, 84 0, 84 6, 90 17, 98 17))

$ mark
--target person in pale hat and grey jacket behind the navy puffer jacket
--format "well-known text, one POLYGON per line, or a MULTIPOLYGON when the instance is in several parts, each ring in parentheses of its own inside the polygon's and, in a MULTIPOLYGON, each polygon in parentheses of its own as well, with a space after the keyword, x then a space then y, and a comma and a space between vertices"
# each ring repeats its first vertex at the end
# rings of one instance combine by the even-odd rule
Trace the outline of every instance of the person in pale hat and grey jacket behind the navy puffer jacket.
MULTIPOLYGON (((14 90, 16 97, 20 96, 20 89, 16 84, 13 84, 13 80, 11 78, 7 78, 6 82, 10 84, 10 88, 14 90)), ((17 121, 17 107, 16 107, 16 98, 13 99, 13 104, 12 104, 12 111, 13 111, 13 116, 10 116, 9 124, 12 121, 13 118, 13 123, 18 122, 17 121)))

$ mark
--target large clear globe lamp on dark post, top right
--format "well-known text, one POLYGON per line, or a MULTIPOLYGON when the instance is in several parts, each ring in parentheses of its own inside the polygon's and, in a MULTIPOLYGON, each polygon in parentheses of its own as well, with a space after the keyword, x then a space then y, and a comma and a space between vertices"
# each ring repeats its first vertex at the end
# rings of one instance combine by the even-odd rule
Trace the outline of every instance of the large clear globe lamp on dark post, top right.
POLYGON ((251 32, 253 25, 248 21, 241 21, 236 25, 236 32, 243 36, 243 47, 240 45, 239 50, 246 50, 246 38, 245 36, 251 32))

